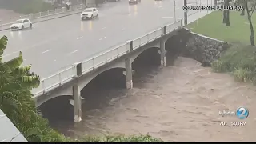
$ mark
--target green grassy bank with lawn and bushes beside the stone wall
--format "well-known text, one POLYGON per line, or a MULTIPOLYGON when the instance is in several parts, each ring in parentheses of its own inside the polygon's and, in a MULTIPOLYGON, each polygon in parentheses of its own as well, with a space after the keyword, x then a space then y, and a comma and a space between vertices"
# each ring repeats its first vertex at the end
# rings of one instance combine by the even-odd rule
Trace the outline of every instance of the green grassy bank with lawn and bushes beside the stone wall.
MULTIPOLYGON (((255 18, 256 14, 252 16, 254 28, 255 18)), ((187 27, 195 33, 232 44, 221 58, 212 63, 214 72, 230 72, 238 81, 256 84, 256 47, 250 46, 250 26, 246 15, 230 12, 230 27, 227 27, 222 23, 222 12, 216 11, 187 27)))

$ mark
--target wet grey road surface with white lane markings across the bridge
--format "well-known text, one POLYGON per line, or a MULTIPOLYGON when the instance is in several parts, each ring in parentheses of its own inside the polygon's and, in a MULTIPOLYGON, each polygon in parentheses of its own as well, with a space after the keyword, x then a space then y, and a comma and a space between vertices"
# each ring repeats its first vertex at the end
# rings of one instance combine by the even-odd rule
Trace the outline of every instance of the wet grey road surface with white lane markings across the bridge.
MULTIPOLYGON (((81 21, 80 14, 74 14, 35 23, 32 30, 1 31, 1 37, 9 38, 4 60, 22 51, 24 64, 32 64, 32 70, 46 78, 74 62, 174 22, 174 0, 142 0, 131 6, 122 0, 107 5, 93 20, 81 21)), ((182 6, 182 1, 176 1, 176 18, 183 17, 182 6)))

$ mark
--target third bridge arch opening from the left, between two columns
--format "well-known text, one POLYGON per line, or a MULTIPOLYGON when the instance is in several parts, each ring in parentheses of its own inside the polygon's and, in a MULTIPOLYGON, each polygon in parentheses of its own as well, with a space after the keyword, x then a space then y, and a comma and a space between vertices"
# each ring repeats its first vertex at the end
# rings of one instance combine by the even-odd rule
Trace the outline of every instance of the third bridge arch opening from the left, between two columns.
POLYGON ((144 50, 137 58, 132 62, 132 68, 134 70, 133 81, 135 87, 142 87, 149 77, 154 77, 155 70, 158 70, 158 66, 161 66, 161 54, 158 47, 151 47, 144 50))

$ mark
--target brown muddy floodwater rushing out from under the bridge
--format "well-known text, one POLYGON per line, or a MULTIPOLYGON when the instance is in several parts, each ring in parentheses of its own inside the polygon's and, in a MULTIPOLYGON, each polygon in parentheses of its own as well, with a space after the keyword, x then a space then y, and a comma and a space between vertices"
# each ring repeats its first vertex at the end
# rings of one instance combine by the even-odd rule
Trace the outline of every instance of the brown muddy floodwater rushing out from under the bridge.
POLYGON ((191 58, 178 57, 172 66, 154 67, 134 78, 133 90, 102 91, 105 99, 97 96, 100 104, 83 110, 82 122, 58 119, 52 126, 71 137, 149 133, 170 142, 255 142, 255 89, 235 82, 230 74, 216 74, 191 58), (250 110, 245 120, 218 114, 238 106, 250 110), (246 122, 246 126, 231 126, 231 122, 246 122))

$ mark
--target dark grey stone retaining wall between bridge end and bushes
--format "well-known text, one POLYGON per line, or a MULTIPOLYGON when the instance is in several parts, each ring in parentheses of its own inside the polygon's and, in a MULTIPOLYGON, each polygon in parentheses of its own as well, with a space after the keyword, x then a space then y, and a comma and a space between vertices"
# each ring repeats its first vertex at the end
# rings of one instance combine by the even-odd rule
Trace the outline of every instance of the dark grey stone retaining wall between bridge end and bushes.
POLYGON ((230 47, 227 42, 196 34, 186 28, 179 30, 178 34, 170 39, 173 39, 172 42, 179 43, 175 42, 175 46, 170 47, 170 50, 173 49, 171 51, 175 51, 175 53, 184 57, 194 58, 201 62, 202 66, 210 66, 211 62, 220 57, 223 50, 230 47))

